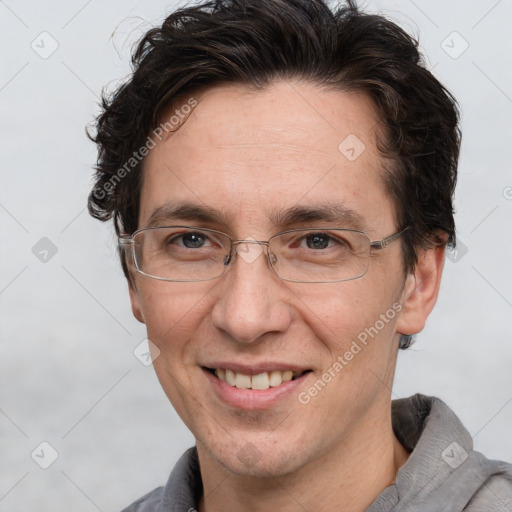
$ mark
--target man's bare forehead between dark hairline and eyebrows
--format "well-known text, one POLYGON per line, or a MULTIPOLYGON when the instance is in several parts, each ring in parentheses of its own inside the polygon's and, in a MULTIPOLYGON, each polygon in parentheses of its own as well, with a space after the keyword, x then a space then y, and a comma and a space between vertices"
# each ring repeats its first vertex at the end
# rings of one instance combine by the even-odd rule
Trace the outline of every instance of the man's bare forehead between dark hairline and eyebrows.
MULTIPOLYGON (((139 226, 177 203, 252 227, 326 205, 356 213, 370 229, 392 220, 379 120, 364 95, 281 81, 261 91, 219 86, 191 99, 187 120, 146 158, 139 226)), ((179 105, 164 122, 173 115, 179 105)))

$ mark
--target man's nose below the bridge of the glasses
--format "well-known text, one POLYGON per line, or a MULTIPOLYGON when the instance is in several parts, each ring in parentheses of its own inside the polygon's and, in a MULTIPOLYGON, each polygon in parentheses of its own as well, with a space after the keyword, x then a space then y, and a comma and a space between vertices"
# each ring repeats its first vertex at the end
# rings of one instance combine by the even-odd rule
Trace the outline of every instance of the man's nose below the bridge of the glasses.
POLYGON ((285 332, 292 321, 288 287, 274 273, 261 244, 233 247, 232 268, 221 278, 213 325, 239 343, 285 332))

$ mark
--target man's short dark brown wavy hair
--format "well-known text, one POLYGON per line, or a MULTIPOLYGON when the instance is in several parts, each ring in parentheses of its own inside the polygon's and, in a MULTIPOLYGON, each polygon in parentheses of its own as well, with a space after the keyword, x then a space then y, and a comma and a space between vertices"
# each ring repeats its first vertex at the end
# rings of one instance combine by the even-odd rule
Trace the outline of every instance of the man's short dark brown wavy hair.
POLYGON ((207 1, 149 30, 132 68, 127 81, 103 92, 95 134, 88 134, 98 147, 89 212, 112 218, 118 235, 138 228, 140 148, 174 102, 218 84, 261 90, 297 78, 373 101, 383 180, 398 226, 411 226, 403 235, 404 272, 414 269, 418 247, 455 245, 457 103, 425 68, 417 40, 387 18, 361 12, 352 0, 335 9, 324 0, 207 1))

